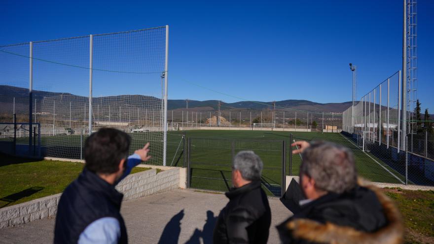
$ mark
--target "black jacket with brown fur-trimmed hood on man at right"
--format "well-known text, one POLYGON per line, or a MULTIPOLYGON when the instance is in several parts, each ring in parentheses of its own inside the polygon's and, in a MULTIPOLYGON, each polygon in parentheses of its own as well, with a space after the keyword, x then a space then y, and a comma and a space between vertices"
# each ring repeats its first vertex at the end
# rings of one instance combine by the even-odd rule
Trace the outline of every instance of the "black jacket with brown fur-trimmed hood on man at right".
POLYGON ((398 209, 381 190, 365 186, 329 193, 301 206, 300 212, 277 226, 282 243, 399 243, 398 209))

